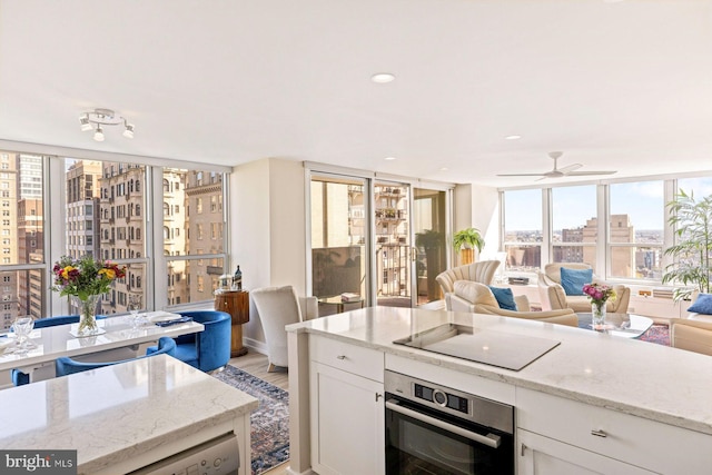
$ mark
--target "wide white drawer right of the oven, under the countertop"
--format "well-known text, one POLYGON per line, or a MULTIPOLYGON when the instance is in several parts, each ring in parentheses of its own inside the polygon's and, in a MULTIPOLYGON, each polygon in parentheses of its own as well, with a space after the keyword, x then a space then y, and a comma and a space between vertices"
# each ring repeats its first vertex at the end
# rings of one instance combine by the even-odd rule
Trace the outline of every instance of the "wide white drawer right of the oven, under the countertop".
POLYGON ((517 427, 656 473, 706 473, 712 436, 517 388, 517 427))

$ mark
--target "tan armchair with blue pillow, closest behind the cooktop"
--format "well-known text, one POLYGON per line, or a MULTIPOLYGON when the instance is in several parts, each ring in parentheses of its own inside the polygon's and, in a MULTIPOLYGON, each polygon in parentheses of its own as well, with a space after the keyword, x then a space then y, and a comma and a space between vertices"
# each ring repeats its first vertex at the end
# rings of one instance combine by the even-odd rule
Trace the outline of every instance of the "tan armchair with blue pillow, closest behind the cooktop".
POLYGON ((527 320, 547 321, 551 324, 578 326, 578 317, 571 308, 548 311, 530 311, 528 299, 525 295, 514 298, 517 311, 500 308, 490 287, 484 284, 458 280, 454 291, 445 294, 445 305, 448 310, 469 311, 473 314, 491 314, 502 317, 524 318, 527 320))

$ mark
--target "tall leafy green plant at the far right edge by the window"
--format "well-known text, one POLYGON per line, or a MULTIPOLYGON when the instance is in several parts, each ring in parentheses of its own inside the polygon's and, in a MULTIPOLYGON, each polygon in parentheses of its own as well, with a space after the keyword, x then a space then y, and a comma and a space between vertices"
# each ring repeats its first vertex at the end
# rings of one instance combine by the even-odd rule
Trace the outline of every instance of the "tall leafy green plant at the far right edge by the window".
POLYGON ((665 267, 662 283, 694 286, 675 288, 675 301, 689 299, 695 289, 709 294, 712 274, 712 196, 695 200, 694 194, 680 190, 668 207, 671 214, 668 222, 673 226, 678 241, 664 251, 674 258, 674 263, 665 267))

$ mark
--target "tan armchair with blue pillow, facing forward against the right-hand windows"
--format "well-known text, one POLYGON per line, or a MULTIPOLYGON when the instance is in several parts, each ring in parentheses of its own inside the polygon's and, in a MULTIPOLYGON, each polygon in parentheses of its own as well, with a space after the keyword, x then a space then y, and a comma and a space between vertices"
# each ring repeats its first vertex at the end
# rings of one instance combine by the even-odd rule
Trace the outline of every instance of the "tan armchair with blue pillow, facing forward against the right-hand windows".
MULTIPOLYGON (((582 263, 553 263, 544 266, 544 271, 538 273, 538 294, 542 300, 542 309, 557 310, 571 308, 574 311, 591 311, 591 300, 585 295, 566 295, 561 286, 561 268, 590 269, 591 266, 582 263)), ((594 276, 593 281, 597 280, 594 276)), ((631 299, 631 289, 624 285, 614 285, 615 300, 606 301, 606 310, 613 314, 627 313, 631 299)))

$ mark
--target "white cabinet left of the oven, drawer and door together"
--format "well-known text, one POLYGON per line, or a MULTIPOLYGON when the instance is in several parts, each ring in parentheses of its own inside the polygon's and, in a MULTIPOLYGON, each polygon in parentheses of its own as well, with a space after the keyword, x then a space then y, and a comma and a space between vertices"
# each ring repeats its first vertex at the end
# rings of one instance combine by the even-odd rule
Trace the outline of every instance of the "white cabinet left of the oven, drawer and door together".
POLYGON ((383 353, 310 335, 309 355, 312 468, 385 473, 383 353))

